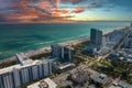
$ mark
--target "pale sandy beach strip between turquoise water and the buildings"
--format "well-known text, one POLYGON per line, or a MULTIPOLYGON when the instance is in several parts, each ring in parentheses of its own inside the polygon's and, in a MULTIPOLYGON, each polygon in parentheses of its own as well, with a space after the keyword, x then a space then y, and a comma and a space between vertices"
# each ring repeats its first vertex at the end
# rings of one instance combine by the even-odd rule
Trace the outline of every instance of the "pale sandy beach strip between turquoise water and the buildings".
MULTIPOLYGON (((109 33, 112 33, 114 31, 119 31, 119 30, 122 30, 122 29, 124 29, 124 28, 114 29, 114 30, 111 30, 111 31, 106 31, 106 32, 103 32, 103 35, 107 35, 109 33)), ((79 38, 70 40, 70 41, 66 41, 66 42, 61 42, 58 44, 72 46, 72 45, 77 45, 79 43, 87 42, 87 41, 89 41, 89 36, 79 37, 79 38)), ((51 46, 50 45, 45 46, 45 47, 42 47, 42 48, 38 48, 38 50, 35 50, 35 51, 24 52, 24 54, 28 57, 31 57, 31 56, 40 55, 40 54, 47 53, 47 52, 51 52, 51 46)), ((11 57, 8 57, 8 58, 0 59, 0 64, 4 63, 4 62, 15 61, 15 59, 16 58, 15 58, 15 55, 14 55, 14 56, 11 56, 11 57)))

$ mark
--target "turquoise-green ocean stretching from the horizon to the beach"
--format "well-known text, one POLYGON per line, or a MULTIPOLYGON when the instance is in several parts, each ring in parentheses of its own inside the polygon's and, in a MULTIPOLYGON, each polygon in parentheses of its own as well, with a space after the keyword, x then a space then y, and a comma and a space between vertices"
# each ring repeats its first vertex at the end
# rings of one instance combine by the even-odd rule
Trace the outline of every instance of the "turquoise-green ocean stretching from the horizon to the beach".
POLYGON ((0 24, 0 59, 15 53, 89 36, 91 28, 106 32, 128 25, 130 22, 0 24))

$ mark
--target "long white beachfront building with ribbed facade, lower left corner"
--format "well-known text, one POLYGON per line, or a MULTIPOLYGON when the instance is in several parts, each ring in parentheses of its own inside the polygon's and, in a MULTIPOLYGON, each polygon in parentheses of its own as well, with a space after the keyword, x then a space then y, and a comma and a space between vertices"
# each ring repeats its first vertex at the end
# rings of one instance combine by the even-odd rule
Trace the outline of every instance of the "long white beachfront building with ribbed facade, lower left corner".
POLYGON ((0 69, 0 88, 21 88, 23 84, 44 78, 52 74, 50 59, 32 61, 18 55, 23 64, 16 64, 0 69))

